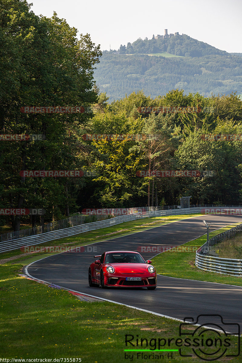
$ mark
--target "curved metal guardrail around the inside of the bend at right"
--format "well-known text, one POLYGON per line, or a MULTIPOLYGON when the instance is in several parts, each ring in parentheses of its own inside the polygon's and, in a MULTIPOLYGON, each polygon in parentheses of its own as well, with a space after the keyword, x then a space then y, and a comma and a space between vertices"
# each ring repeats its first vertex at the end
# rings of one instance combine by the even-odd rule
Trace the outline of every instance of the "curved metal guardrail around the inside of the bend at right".
MULTIPOLYGON (((214 246, 218 242, 224 241, 227 238, 233 238, 237 233, 242 231, 242 225, 237 225, 228 231, 219 233, 209 240, 209 251, 211 246, 214 246)), ((242 260, 237 258, 223 258, 217 256, 208 256, 201 254, 201 251, 206 251, 208 248, 208 242, 198 248, 196 252, 195 265, 201 270, 208 272, 216 272, 220 274, 226 274, 231 276, 242 277, 242 260)))

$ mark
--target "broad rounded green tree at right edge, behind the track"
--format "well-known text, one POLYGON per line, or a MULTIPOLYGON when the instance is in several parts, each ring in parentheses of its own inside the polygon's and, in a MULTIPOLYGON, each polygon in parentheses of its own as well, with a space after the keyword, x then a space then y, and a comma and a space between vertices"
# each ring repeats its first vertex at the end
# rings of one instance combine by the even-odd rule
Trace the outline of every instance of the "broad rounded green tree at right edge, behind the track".
POLYGON ((192 195, 198 204, 207 201, 223 201, 225 204, 239 204, 238 193, 239 160, 241 148, 227 141, 202 140, 202 131, 194 131, 175 152, 177 166, 181 170, 214 171, 197 178, 181 178, 180 189, 185 195, 192 195))

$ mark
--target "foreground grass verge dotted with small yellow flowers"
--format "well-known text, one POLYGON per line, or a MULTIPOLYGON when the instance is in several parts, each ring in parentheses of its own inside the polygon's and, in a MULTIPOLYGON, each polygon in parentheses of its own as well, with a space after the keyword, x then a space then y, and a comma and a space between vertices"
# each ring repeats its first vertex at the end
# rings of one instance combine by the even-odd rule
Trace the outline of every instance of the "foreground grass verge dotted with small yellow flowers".
MULTIPOLYGON (((148 348, 153 349, 160 338, 161 349, 179 349, 181 341, 176 343, 176 339, 180 339, 180 322, 114 303, 79 301, 68 291, 53 289, 18 276, 21 267, 20 264, 0 265, 1 358, 81 358, 82 362, 88 363, 106 363, 110 360, 115 363, 130 362, 130 359, 125 359, 126 354, 133 355, 132 362, 137 363, 201 362, 188 347, 182 348, 182 352, 191 353, 193 357, 181 357, 175 351, 154 353, 163 355, 164 359, 137 359, 137 352, 124 350, 147 349, 145 340, 141 346, 140 338, 150 342, 148 348), (132 338, 131 335, 134 337, 133 343, 138 336, 139 345, 126 346, 126 335, 127 340, 132 338), (168 339, 172 339, 170 344, 168 339)), ((94 294, 94 290, 91 290, 94 294)), ((147 290, 143 293, 151 295, 147 290)), ((194 331, 194 327, 189 329, 194 331)), ((205 333, 204 338, 208 337, 205 333)), ((231 338, 233 347, 236 347, 237 340, 231 338)), ((149 354, 152 352, 149 351, 149 354)), ((238 359, 229 361, 238 362, 238 359)), ((227 362, 227 358, 222 357, 219 362, 227 362)))

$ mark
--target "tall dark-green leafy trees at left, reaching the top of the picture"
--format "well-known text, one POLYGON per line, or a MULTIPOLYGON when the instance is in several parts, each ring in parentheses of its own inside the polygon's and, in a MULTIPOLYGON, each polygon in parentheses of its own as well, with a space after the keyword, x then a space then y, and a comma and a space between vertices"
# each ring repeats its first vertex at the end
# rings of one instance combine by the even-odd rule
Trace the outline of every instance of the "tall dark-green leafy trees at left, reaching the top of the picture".
MULTIPOLYGON (((56 13, 51 19, 37 17, 26 1, 3 0, 1 11, 4 68, 0 75, 0 131, 46 137, 38 142, 0 144, 4 170, 0 177, 4 185, 1 204, 12 208, 47 208, 48 218, 53 215, 60 218, 71 204, 76 208, 70 195, 77 193, 76 185, 81 187, 83 182, 24 178, 19 172, 71 170, 78 166, 77 149, 68 136, 89 115, 21 114, 20 107, 87 106, 95 102, 93 65, 101 56, 100 47, 91 42, 89 34, 81 34, 77 40, 77 29, 58 19, 56 13), (8 58, 13 58, 12 64, 8 58), (9 81, 4 76, 7 70, 9 81)), ((41 222, 44 223, 42 217, 41 222)), ((12 225, 14 231, 19 230, 19 216, 12 217, 12 225)))

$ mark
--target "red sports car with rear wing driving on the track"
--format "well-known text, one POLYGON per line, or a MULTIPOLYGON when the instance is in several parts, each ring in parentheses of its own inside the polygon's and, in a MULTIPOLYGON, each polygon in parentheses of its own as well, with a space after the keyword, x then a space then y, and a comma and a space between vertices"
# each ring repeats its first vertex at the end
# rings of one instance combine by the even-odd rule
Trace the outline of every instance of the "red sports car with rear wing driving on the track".
POLYGON ((156 270, 145 262, 138 252, 109 251, 104 252, 89 267, 89 286, 116 287, 147 287, 148 290, 156 288, 156 270))

